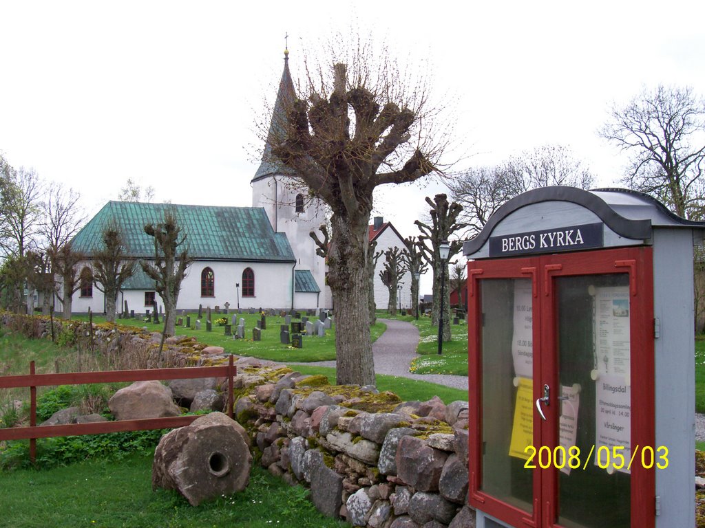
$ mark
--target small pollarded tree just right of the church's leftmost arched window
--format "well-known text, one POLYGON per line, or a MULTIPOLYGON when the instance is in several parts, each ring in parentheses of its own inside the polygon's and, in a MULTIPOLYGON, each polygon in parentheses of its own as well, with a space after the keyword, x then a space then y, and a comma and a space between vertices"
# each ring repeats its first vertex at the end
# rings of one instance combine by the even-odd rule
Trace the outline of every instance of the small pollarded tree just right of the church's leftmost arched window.
POLYGON ((106 320, 115 322, 118 291, 135 275, 135 261, 127 256, 123 234, 116 222, 104 227, 102 242, 102 249, 93 254, 93 280, 97 289, 105 294, 106 320))

